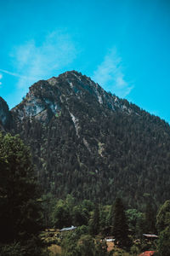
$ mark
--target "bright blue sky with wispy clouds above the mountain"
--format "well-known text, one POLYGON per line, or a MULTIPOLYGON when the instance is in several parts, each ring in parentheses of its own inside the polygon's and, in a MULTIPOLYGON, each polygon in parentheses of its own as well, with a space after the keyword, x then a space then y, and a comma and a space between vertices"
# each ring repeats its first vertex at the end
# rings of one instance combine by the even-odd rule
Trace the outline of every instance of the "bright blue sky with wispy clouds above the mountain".
POLYGON ((170 122, 170 0, 0 0, 0 96, 77 70, 170 122))

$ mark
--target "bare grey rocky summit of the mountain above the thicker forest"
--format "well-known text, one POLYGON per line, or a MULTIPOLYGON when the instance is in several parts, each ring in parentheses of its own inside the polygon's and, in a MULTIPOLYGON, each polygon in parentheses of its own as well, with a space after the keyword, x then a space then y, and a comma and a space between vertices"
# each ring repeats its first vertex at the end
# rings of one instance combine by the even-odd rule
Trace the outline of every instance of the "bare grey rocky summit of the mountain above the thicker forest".
POLYGON ((77 71, 65 72, 59 77, 40 80, 30 87, 23 102, 12 109, 18 118, 35 117, 48 123, 61 109, 61 105, 68 106, 77 97, 77 101, 98 102, 99 108, 109 108, 116 111, 131 113, 132 109, 118 97, 108 94, 99 84, 77 71))

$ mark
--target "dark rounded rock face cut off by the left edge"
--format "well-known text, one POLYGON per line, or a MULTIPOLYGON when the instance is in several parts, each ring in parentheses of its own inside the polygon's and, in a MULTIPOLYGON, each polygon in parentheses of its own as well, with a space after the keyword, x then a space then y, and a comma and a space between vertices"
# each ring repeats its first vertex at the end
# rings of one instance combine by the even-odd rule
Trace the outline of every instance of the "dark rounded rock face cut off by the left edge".
POLYGON ((8 128, 10 122, 10 113, 7 102, 0 97, 0 126, 2 129, 8 128))

